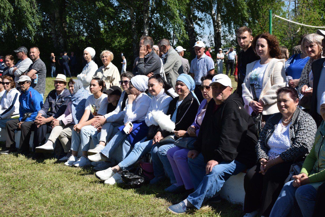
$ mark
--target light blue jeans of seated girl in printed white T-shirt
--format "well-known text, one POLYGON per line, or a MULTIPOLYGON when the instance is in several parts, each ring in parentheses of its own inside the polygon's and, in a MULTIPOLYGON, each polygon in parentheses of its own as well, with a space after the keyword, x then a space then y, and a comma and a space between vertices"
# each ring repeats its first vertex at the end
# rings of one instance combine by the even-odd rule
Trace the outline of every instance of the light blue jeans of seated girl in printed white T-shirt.
POLYGON ((72 130, 71 150, 77 152, 79 151, 79 147, 81 145, 82 151, 88 151, 90 147, 90 137, 92 134, 95 134, 96 131, 97 129, 91 125, 84 126, 81 128, 79 133, 75 130, 72 130))

